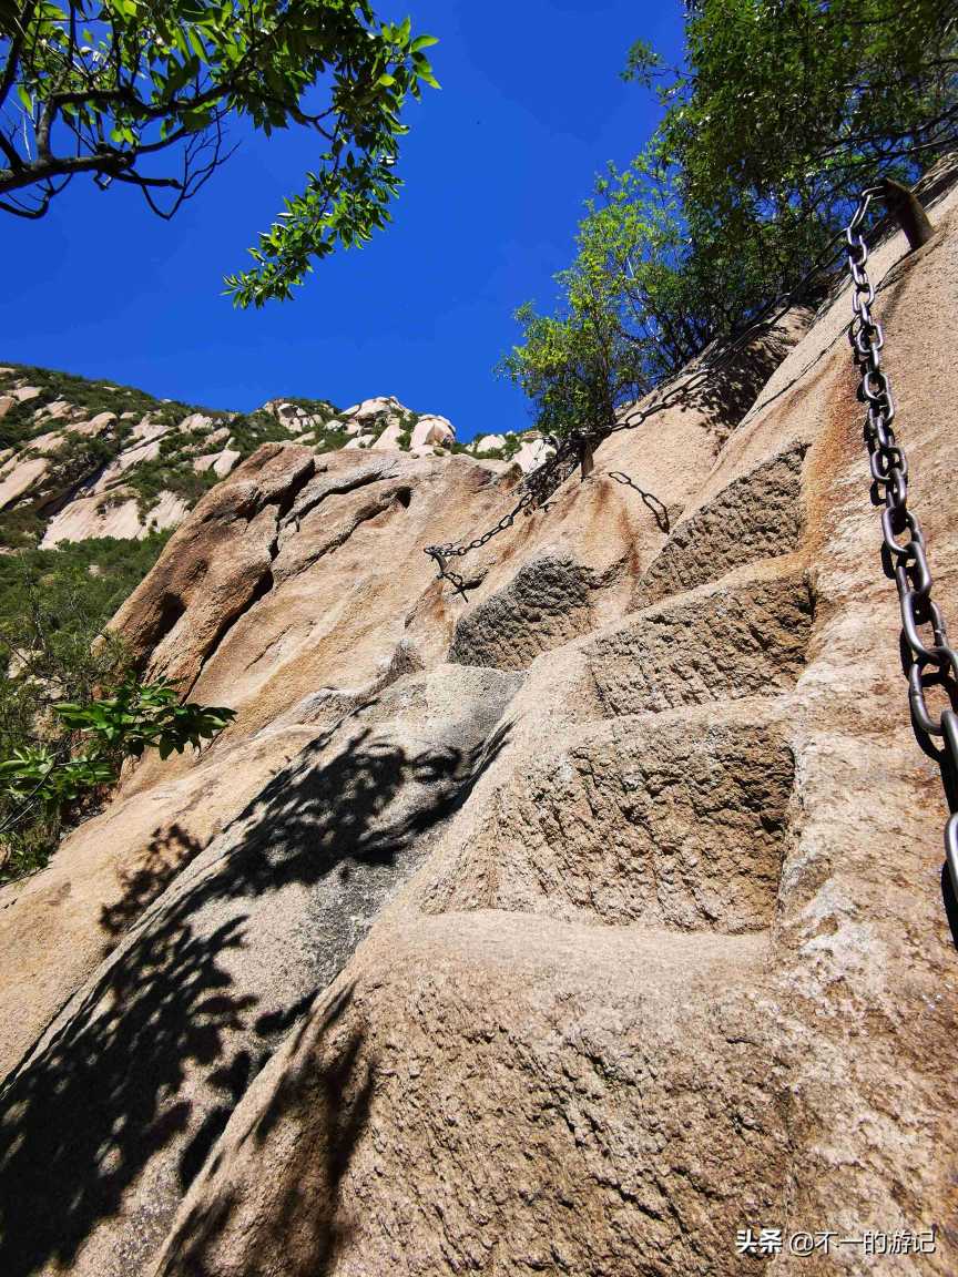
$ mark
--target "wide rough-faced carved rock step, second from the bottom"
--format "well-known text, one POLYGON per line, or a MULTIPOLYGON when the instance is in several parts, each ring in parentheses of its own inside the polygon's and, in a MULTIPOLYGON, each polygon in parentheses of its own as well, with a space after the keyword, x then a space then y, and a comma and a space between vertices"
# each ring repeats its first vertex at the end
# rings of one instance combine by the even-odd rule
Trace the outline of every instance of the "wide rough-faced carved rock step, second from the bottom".
POLYGON ((589 727, 490 796, 423 907, 766 928, 793 774, 768 700, 589 727))

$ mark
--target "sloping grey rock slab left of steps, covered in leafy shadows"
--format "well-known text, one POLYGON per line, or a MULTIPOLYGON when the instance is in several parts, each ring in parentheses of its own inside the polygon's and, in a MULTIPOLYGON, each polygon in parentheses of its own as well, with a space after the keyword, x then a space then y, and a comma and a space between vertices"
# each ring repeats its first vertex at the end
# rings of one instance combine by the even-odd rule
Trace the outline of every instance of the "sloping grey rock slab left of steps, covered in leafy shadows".
MULTIPOLYGON (((409 753, 367 730, 322 769, 328 739, 318 741, 167 889, 0 1096, 4 1277, 51 1260, 69 1267, 97 1225, 121 1211, 129 1228, 124 1237, 114 1226, 111 1253, 146 1245, 143 1236, 158 1244, 249 1082, 395 889, 402 853, 465 802, 505 739, 499 730, 473 750, 409 753), (347 907, 342 884, 355 884, 347 907), (313 889, 305 905, 300 893, 299 904, 270 912, 291 885, 313 889), (324 903, 310 903, 323 891, 324 903), (266 969, 270 955, 281 972, 266 969), (263 1008, 277 987, 299 996, 263 1008), (139 1204, 135 1193, 124 1200, 160 1154, 163 1185, 179 1177, 179 1191, 169 1202, 149 1189, 139 1204)), ((134 895, 141 886, 132 884, 134 895)), ((128 1271, 148 1255, 132 1255, 128 1271)))

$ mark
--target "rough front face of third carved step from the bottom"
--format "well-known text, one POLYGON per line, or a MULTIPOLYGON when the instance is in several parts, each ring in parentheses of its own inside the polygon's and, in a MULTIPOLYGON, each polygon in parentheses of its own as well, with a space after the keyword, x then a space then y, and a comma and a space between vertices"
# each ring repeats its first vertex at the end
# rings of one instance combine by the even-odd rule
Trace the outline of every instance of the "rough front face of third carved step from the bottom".
POLYGON ((775 696, 805 664, 814 600, 793 561, 787 575, 705 586, 631 614, 586 647, 607 718, 775 696))

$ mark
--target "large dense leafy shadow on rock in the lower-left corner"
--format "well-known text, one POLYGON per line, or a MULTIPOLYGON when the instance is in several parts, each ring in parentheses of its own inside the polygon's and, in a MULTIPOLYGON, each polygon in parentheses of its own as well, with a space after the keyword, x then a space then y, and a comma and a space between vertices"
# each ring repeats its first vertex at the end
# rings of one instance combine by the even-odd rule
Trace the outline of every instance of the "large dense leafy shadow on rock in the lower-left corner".
POLYGON ((93 1221, 186 1130, 188 1066, 212 1068, 250 1006, 220 964, 241 942, 240 919, 201 936, 179 902, 14 1074, 0 1114, 1 1272, 68 1266, 93 1221))

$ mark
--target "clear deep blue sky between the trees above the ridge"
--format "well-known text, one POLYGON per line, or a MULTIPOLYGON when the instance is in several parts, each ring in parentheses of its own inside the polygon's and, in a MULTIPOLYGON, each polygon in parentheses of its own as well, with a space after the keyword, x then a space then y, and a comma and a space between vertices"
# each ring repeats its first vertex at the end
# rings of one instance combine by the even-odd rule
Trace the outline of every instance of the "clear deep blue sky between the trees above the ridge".
POLYGON ((250 138, 171 222, 137 192, 77 179, 40 222, 0 213, 0 363, 41 364, 211 407, 280 395, 342 406, 396 395, 459 438, 522 429, 522 396, 493 366, 515 308, 548 304, 593 174, 655 125, 620 79, 642 37, 671 60, 680 0, 386 0, 439 37, 441 92, 410 103, 395 221, 317 266, 290 303, 236 312, 222 276, 316 156, 303 130, 250 138))

